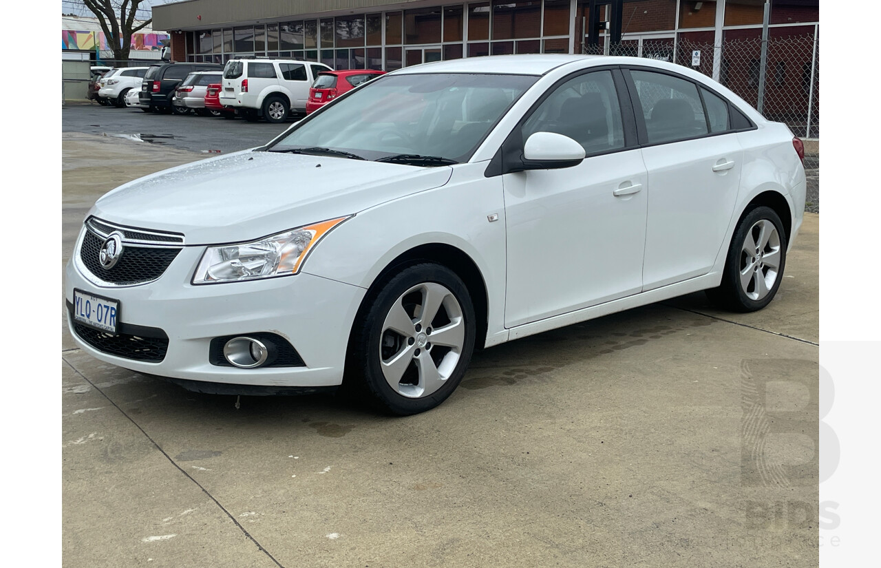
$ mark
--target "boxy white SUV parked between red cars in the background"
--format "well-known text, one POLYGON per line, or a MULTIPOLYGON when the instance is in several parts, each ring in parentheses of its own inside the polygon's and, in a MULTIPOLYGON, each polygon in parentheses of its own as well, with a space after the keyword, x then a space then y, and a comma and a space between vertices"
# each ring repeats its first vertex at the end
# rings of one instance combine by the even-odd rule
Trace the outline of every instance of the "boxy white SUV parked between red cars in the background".
POLYGON ((332 69, 293 59, 231 59, 223 70, 220 104, 248 120, 285 122, 292 112, 306 114, 309 87, 322 71, 332 69))

